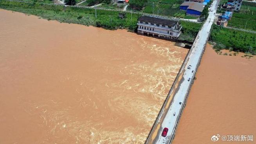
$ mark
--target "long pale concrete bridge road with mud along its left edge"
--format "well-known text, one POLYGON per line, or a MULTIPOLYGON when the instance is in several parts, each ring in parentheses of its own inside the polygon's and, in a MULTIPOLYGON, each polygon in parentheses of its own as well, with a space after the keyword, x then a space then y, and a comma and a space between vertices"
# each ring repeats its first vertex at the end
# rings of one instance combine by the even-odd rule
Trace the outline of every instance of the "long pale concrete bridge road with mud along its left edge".
POLYGON ((184 61, 184 65, 182 65, 177 76, 177 82, 175 82, 171 88, 168 94, 169 98, 167 98, 160 111, 159 117, 153 125, 145 144, 170 144, 173 140, 179 118, 186 105, 186 98, 193 83, 195 71, 200 63, 200 59, 202 58, 205 45, 211 32, 211 26, 215 18, 218 3, 217 0, 213 1, 212 6, 209 9, 209 16, 198 32, 191 50, 184 61), (191 69, 187 68, 189 65, 192 65, 191 69), (194 70, 193 73, 192 70, 194 70), (188 81, 189 78, 190 81, 188 81), (179 104, 180 102, 181 104, 179 104), (166 137, 161 136, 164 128, 169 129, 166 137))

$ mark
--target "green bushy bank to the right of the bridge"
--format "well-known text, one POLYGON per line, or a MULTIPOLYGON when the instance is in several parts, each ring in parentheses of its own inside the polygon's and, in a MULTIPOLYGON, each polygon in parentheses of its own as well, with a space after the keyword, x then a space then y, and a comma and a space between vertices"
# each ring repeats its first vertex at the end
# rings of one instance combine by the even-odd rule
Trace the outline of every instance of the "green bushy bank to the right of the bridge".
POLYGON ((256 55, 256 34, 213 25, 210 41, 216 50, 230 49, 256 55))

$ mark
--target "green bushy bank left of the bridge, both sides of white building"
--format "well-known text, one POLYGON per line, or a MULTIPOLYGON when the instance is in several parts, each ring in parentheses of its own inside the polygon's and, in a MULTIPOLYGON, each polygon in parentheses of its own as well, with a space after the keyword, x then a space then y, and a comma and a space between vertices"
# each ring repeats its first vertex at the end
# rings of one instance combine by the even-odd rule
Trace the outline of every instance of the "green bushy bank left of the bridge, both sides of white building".
MULTIPOLYGON (((94 25, 104 29, 128 29, 136 32, 137 19, 140 14, 126 12, 124 19, 119 18, 119 11, 107 11, 102 9, 81 8, 81 7, 64 7, 63 5, 46 5, 42 3, 23 3, 0 1, 0 8, 21 13, 33 14, 47 20, 57 20, 65 23, 77 23, 82 25, 94 25)), ((178 40, 193 42, 201 23, 180 21, 182 24, 182 34, 178 40)))

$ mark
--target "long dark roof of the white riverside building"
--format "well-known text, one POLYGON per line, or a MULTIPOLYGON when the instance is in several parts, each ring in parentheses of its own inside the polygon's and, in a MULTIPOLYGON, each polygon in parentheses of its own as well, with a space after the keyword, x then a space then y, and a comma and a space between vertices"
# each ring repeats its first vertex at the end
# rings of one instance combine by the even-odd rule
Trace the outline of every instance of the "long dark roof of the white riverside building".
POLYGON ((138 20, 143 22, 157 23, 157 24, 168 25, 168 26, 174 26, 177 23, 177 21, 175 20, 166 20, 166 19, 154 18, 150 16, 141 16, 138 20))

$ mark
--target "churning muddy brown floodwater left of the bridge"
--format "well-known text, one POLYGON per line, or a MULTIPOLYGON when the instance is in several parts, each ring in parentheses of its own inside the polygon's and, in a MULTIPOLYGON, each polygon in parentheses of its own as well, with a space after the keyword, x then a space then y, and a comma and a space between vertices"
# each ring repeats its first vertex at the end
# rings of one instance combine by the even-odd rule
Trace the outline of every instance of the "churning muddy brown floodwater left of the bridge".
POLYGON ((0 9, 0 143, 144 143, 187 52, 0 9))

